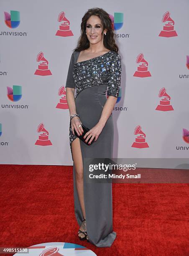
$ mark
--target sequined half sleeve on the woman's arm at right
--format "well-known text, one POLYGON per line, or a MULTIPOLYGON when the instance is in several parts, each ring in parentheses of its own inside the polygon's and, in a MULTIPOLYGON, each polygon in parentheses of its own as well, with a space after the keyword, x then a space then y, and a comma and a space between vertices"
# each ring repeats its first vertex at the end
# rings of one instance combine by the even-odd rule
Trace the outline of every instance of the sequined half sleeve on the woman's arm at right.
POLYGON ((110 61, 107 95, 118 97, 121 84, 121 57, 119 54, 114 54, 110 61))

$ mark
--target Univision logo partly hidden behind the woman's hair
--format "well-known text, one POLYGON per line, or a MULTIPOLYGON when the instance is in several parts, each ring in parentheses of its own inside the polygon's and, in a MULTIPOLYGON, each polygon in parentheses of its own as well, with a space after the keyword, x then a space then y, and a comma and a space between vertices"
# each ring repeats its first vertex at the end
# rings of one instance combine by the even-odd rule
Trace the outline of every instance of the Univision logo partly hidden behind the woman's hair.
MULTIPOLYGON (((114 15, 109 14, 112 21, 113 30, 117 31, 123 27, 123 13, 114 13, 114 15)), ((115 34, 115 37, 128 38, 130 34, 115 34)))

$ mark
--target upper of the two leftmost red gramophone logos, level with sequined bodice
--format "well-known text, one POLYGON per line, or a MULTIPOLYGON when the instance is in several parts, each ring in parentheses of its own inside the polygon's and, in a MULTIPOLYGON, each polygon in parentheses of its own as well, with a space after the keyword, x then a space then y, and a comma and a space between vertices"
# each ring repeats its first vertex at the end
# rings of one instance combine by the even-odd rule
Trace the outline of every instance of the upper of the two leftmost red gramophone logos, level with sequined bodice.
POLYGON ((52 74, 48 67, 49 62, 44 58, 42 51, 37 55, 36 61, 41 62, 39 63, 38 69, 36 69, 36 72, 34 74, 38 76, 49 76, 52 74))

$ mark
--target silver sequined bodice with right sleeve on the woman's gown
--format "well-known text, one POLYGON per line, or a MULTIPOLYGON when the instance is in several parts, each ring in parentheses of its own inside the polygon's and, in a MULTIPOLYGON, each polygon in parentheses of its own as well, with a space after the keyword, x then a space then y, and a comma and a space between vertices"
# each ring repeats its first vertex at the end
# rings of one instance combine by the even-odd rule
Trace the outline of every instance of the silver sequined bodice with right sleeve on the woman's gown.
POLYGON ((120 70, 120 55, 114 51, 76 63, 73 70, 76 85, 75 97, 82 90, 92 86, 100 86, 101 84, 109 84, 109 94, 118 97, 120 70))

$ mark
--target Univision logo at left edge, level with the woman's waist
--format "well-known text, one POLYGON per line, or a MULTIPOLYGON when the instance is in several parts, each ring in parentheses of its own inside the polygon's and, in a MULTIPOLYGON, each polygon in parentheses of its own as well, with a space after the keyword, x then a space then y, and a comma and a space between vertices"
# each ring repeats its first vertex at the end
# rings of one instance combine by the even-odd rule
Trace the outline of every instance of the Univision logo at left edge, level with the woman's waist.
MULTIPOLYGON (((13 88, 7 86, 7 97, 10 101, 19 101, 22 97, 22 86, 13 85, 13 88)), ((1 108, 27 108, 28 105, 1 104, 1 108)))

